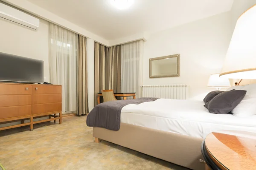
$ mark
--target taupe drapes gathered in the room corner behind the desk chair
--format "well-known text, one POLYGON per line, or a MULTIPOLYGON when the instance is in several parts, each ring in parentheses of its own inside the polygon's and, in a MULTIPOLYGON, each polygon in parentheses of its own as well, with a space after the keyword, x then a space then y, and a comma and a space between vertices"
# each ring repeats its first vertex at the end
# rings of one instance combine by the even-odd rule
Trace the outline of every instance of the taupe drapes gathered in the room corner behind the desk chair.
POLYGON ((94 92, 97 105, 97 93, 102 89, 121 92, 121 45, 108 48, 95 42, 94 52, 94 92))

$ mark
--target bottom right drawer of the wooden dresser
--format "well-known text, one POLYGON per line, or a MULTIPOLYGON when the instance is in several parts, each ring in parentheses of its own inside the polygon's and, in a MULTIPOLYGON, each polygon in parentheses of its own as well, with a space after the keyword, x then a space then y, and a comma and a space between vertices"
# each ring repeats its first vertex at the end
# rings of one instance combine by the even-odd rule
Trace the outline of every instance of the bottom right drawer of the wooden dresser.
POLYGON ((62 103, 47 103, 47 104, 32 105, 32 114, 48 113, 48 112, 61 111, 61 110, 62 110, 62 103))

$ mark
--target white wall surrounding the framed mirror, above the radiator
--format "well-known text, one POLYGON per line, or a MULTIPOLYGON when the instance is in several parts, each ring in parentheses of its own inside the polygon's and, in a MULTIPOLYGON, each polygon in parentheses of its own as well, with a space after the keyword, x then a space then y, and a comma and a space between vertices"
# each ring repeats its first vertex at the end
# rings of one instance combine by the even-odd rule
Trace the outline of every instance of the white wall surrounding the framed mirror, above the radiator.
POLYGON ((204 99, 210 74, 220 73, 231 39, 225 12, 152 34, 144 43, 143 85, 187 84, 190 99, 204 99), (149 79, 149 58, 180 54, 180 77, 149 79))

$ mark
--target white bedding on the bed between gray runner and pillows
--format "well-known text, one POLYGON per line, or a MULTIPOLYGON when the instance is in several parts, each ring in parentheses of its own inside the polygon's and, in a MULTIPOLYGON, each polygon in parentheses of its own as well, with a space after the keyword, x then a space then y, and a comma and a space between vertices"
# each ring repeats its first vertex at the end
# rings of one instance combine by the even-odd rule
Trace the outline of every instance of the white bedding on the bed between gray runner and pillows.
POLYGON ((203 101, 195 100, 157 99, 126 105, 121 111, 121 122, 199 138, 219 130, 256 133, 256 115, 213 114, 203 101))

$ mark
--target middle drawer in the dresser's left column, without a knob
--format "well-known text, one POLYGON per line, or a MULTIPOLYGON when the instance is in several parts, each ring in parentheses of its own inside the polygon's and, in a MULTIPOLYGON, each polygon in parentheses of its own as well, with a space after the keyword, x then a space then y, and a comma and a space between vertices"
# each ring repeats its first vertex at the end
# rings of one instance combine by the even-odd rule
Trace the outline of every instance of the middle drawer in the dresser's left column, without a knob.
POLYGON ((31 105, 32 95, 0 95, 0 107, 31 105))

